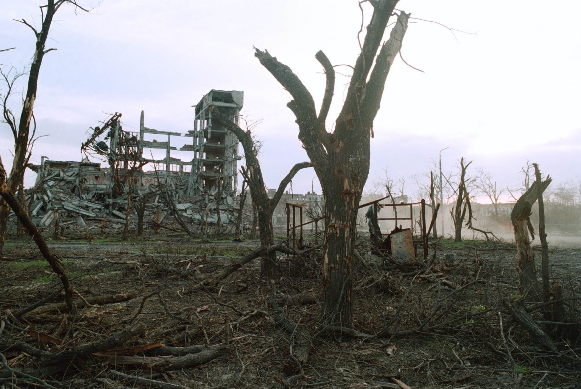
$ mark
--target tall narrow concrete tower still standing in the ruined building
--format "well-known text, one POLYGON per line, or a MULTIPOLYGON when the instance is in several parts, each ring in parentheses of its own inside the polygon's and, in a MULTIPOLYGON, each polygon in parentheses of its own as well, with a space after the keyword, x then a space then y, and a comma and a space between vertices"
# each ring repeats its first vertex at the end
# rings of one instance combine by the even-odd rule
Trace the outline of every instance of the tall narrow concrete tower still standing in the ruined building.
POLYGON ((232 118, 238 117, 244 102, 244 92, 212 89, 196 105, 193 123, 194 159, 189 188, 193 193, 208 192, 221 184, 224 193, 238 186, 238 139, 225 127, 212 122, 211 109, 232 118))

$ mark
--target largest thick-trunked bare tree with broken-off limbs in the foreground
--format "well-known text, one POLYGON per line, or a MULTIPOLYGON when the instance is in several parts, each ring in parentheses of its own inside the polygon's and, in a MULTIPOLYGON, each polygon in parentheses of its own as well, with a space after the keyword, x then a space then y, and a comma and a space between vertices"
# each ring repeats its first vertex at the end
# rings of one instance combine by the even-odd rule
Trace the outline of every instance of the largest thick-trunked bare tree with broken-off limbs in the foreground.
POLYGON ((354 236, 357 206, 369 175, 373 123, 386 78, 400 51, 410 16, 399 12, 389 40, 382 45, 388 21, 395 15, 393 12, 397 0, 370 0, 361 2, 360 8, 364 4, 372 6, 373 14, 353 67, 343 107, 330 133, 325 123, 335 89, 335 70, 325 53, 319 51, 315 55, 327 79, 318 114, 313 96, 288 66, 268 51, 256 49, 254 53, 292 95, 293 99, 287 107, 296 116, 299 139, 314 164, 327 208, 327 235, 322 258, 321 319, 329 325, 346 327, 353 323, 354 236))

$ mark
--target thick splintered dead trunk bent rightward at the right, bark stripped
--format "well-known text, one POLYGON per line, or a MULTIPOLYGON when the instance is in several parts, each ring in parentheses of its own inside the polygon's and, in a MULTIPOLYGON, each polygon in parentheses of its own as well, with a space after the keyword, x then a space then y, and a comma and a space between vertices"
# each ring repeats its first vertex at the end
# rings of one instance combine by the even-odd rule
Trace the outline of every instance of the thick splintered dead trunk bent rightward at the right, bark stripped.
POLYGON ((533 204, 539 199, 539 193, 543 193, 553 181, 548 177, 544 181, 535 181, 533 185, 521 196, 512 209, 511 220, 514 229, 514 238, 517 243, 517 260, 521 293, 530 296, 534 300, 540 300, 540 287, 537 283, 537 271, 535 268, 535 254, 530 247, 529 231, 535 239, 535 231, 530 224, 530 211, 533 204))

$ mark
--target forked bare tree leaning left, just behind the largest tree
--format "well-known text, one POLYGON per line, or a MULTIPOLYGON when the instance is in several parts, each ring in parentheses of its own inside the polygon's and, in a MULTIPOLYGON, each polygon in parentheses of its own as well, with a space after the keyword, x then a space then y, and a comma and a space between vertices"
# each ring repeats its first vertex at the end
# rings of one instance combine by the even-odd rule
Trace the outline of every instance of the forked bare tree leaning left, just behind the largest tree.
MULTIPOLYGON (((261 246, 268 246, 274 243, 272 214, 274 213, 274 208, 277 206, 278 202, 281 201, 286 186, 293 177, 295 177, 297 172, 304 168, 312 167, 313 164, 310 162, 302 162, 293 166, 279 183, 278 189, 274 193, 274 196, 272 196, 272 199, 269 199, 266 186, 264 185, 260 161, 258 160, 256 143, 254 142, 250 128, 244 131, 238 124, 234 123, 231 117, 225 116, 225 114, 220 111, 219 107, 213 108, 211 114, 213 120, 216 120, 218 123, 223 125, 228 129, 228 131, 231 131, 242 145, 246 159, 246 168, 242 169, 242 173, 245 181, 248 183, 252 203, 257 212, 260 244, 261 246)), ((276 255, 276 251, 269 251, 267 254, 263 255, 261 273, 267 279, 274 278, 276 274, 276 255)))

